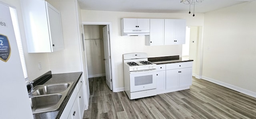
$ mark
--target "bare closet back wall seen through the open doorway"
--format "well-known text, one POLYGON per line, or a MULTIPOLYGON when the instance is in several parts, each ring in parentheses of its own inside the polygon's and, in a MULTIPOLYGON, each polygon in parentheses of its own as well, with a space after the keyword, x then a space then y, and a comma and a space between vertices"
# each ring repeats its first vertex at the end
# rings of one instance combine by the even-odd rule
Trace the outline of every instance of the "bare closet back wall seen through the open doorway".
POLYGON ((89 77, 105 75, 103 30, 105 25, 84 25, 84 42, 89 77), (94 40, 93 40, 94 39, 94 40))

